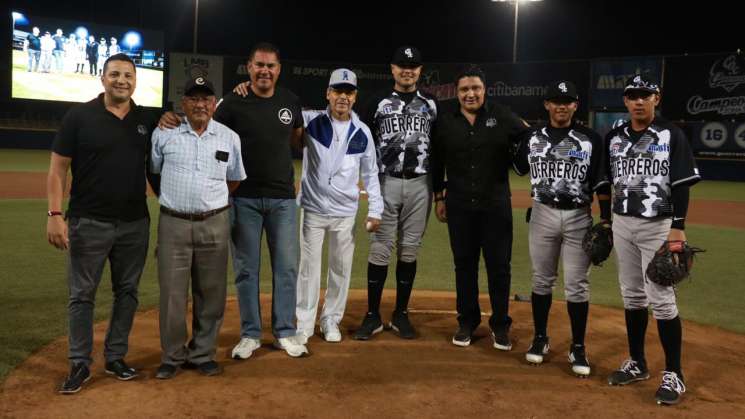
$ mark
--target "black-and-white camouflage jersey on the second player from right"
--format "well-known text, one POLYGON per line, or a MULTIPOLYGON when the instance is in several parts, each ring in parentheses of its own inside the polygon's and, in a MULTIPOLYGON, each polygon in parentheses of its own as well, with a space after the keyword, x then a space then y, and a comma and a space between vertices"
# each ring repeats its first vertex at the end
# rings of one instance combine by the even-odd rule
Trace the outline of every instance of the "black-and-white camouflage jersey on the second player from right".
POLYGON ((546 126, 534 130, 524 144, 531 196, 537 202, 561 209, 586 207, 593 192, 608 183, 603 140, 589 128, 546 126))

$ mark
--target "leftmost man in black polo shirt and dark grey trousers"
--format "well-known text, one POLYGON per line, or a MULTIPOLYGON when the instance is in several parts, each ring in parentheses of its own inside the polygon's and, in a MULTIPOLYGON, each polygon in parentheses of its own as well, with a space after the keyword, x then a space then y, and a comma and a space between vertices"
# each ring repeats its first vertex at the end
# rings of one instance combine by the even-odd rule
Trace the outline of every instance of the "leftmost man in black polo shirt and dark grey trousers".
POLYGON ((145 168, 154 124, 131 99, 136 73, 127 55, 106 60, 101 82, 104 93, 65 116, 52 145, 47 178, 47 239, 58 249, 69 249, 71 371, 59 390, 63 394, 78 392, 90 379, 93 307, 107 259, 114 303, 104 343, 106 373, 120 380, 137 376, 124 356, 147 256, 145 168), (65 224, 61 209, 70 166, 65 224))

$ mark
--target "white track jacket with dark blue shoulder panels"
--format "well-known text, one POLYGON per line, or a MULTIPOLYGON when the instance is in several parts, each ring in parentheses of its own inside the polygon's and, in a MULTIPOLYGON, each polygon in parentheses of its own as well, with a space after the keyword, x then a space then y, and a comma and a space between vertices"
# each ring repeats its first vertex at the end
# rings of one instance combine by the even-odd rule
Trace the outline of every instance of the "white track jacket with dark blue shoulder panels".
POLYGON ((380 219, 383 198, 380 195, 378 164, 370 129, 352 112, 349 131, 343 143, 334 144, 330 110, 304 110, 305 146, 303 175, 298 203, 306 211, 335 217, 357 213, 359 180, 365 185, 367 216, 380 219))

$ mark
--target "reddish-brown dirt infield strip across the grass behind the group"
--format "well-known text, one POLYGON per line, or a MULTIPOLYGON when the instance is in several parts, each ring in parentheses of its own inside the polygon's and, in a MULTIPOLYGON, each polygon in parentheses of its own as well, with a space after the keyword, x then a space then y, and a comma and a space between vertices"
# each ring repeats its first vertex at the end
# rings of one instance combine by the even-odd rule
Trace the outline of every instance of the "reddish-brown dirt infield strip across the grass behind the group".
MULTIPOLYGON (((0 172, 0 199, 43 199, 46 197, 45 173, 0 172)), ((512 205, 515 208, 527 208, 530 204, 529 192, 513 191, 512 205)), ((688 209, 688 221, 695 224, 745 229, 745 203, 697 199, 688 209), (712 216, 713 214, 716 216, 712 216)))

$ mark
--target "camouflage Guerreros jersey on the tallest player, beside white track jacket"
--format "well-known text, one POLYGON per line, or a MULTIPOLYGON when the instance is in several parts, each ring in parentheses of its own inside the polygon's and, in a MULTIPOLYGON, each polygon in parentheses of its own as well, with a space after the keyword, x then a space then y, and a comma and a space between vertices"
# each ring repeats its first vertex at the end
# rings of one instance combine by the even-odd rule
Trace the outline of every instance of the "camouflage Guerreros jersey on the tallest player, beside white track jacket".
POLYGON ((386 90, 367 103, 361 114, 375 138, 380 173, 416 177, 429 172, 431 132, 437 111, 437 100, 418 90, 386 90))

